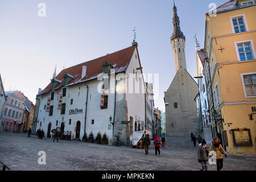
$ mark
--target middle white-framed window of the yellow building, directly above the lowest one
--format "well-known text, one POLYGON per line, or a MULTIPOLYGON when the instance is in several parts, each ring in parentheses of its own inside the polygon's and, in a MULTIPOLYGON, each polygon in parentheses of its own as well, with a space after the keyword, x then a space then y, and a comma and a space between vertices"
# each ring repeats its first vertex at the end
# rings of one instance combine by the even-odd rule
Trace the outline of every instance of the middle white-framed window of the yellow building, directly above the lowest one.
POLYGON ((250 42, 237 44, 240 61, 253 60, 253 51, 250 42))

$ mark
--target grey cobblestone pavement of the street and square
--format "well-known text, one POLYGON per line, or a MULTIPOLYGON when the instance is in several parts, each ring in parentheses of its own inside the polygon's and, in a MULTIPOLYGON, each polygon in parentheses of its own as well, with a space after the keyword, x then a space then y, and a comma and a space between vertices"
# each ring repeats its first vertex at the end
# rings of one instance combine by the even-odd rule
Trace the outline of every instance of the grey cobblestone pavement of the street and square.
MULTIPOLYGON (((188 170, 199 171, 197 147, 190 138, 168 138, 161 155, 155 155, 151 140, 149 155, 144 149, 95 143, 30 138, 26 134, 0 133, 0 161, 12 170, 188 170), (169 147, 170 146, 170 147, 169 147), (46 165, 39 165, 39 151, 46 152, 46 165)), ((216 165, 209 166, 216 171, 216 165)), ((256 156, 224 158, 222 170, 256 170, 256 156)))

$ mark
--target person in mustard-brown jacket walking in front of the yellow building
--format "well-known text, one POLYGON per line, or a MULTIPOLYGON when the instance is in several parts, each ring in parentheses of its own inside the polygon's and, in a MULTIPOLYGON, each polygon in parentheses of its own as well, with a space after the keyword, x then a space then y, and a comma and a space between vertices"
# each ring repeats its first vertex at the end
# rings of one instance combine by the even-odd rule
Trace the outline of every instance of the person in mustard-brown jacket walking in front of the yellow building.
POLYGON ((209 151, 216 152, 217 171, 220 171, 223 167, 223 154, 225 155, 225 157, 228 157, 228 155, 226 154, 225 150, 221 146, 220 139, 218 139, 218 137, 213 138, 209 151))

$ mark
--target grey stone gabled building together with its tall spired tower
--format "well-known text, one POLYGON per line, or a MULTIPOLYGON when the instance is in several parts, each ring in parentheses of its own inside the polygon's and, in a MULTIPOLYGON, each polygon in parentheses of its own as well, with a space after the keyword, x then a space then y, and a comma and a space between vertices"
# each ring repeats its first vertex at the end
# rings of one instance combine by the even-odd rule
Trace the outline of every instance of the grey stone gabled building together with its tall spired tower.
POLYGON ((166 105, 166 137, 189 137, 197 132, 197 107, 194 98, 198 86, 187 72, 185 60, 185 36, 180 30, 180 20, 174 4, 172 19, 174 32, 171 37, 175 60, 175 77, 164 92, 166 105))

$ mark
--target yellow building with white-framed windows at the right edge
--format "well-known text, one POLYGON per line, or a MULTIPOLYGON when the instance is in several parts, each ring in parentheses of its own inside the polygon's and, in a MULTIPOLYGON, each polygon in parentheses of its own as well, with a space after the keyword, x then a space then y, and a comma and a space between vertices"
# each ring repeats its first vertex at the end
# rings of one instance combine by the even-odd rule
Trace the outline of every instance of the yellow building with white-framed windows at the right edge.
POLYGON ((232 0, 206 14, 218 133, 229 154, 256 155, 256 1, 232 0))

